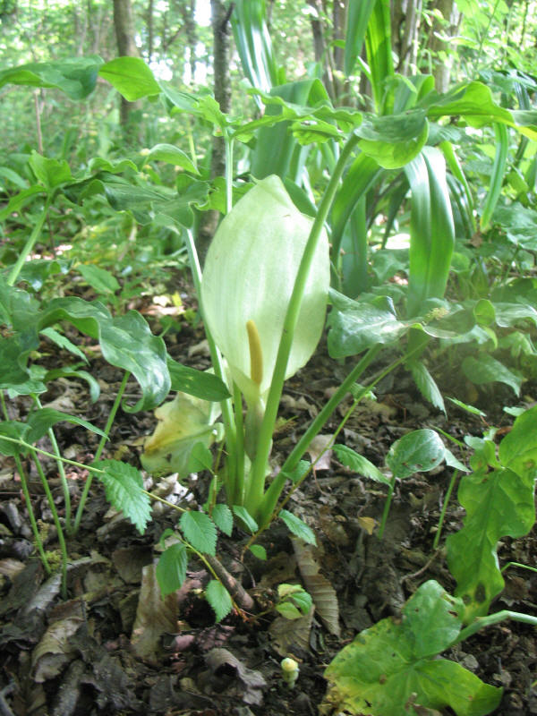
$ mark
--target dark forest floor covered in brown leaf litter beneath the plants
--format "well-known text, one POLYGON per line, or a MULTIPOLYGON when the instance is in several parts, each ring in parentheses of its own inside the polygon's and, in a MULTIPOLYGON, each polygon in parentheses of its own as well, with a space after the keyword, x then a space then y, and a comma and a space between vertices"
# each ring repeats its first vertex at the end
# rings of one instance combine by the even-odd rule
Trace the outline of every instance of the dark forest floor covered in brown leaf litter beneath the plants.
MULTIPOLYGON (((134 307, 147 313, 142 305, 134 307)), ((168 334, 166 341, 176 360, 208 367, 200 328, 185 321, 183 329, 168 334)), ((88 347, 93 354, 91 372, 101 387, 98 403, 92 405, 85 384, 72 379, 56 380, 42 402, 103 427, 122 375, 102 361, 98 346, 88 347)), ((69 356, 55 354, 52 345, 44 345, 43 351, 49 353, 51 365, 69 360, 69 356)), ((444 394, 465 399, 460 392, 465 390, 460 371, 456 366, 444 371, 444 394)), ((286 383, 281 413, 285 422, 272 452, 275 467, 345 374, 345 366, 331 361, 321 344, 309 365, 286 383)), ((435 376, 439 377, 438 372, 435 376)), ((127 394, 134 398, 137 389, 132 381, 127 394)), ((366 401, 354 410, 338 438, 375 465, 384 465, 390 445, 409 430, 440 428, 459 440, 467 434, 482 436, 482 418, 456 407, 449 408, 447 416, 430 408, 404 371, 383 380, 376 396, 376 402, 366 401)), ((536 398, 537 386, 524 384, 523 404, 536 398)), ((502 407, 515 404, 516 398, 498 384, 469 402, 486 413, 491 425, 507 428, 512 422, 502 407)), ((10 404, 10 417, 19 419, 28 408, 28 400, 18 398, 10 404)), ((323 435, 337 428, 342 414, 334 417, 323 435)), ((154 425, 150 413, 120 412, 105 456, 139 467, 142 438, 154 425)), ((56 427, 64 456, 88 464, 97 436, 71 423, 56 427)), ((313 451, 322 445, 321 437, 313 451)), ((47 447, 46 442, 43 446, 47 447)), ((55 464, 50 461, 45 466, 62 514, 55 464)), ((59 575, 47 578, 36 557, 21 483, 11 458, 4 458, 0 465, 0 713, 317 714, 327 690, 324 669, 342 646, 379 619, 397 615, 405 600, 428 579, 454 592, 442 545, 464 516, 455 493, 447 508, 440 548, 432 548, 451 473, 440 465, 399 482, 387 531, 379 541, 372 528, 379 524, 386 488, 359 477, 328 453, 287 504, 315 531, 317 548, 291 541, 278 524, 261 540, 267 561, 249 553, 241 558, 245 533, 235 529, 233 539, 219 538, 219 558, 254 596, 258 613, 234 612, 215 624, 214 613, 202 598, 208 580, 202 564, 191 561, 183 588, 165 600, 160 598, 153 565, 160 535, 175 527, 175 511, 157 505, 153 521, 141 536, 124 516, 109 508, 97 482, 81 530, 68 540, 69 594, 63 601, 59 575), (314 572, 318 570, 322 589, 328 593, 328 609, 297 622, 278 618, 270 609, 277 585, 300 584, 304 562, 314 572), (281 678, 280 661, 287 653, 300 663, 300 676, 292 689, 281 678)), ((76 508, 86 474, 74 468, 68 478, 76 508)), ((206 499, 208 484, 206 475, 200 473, 186 484, 174 475, 155 482, 148 479, 147 487, 169 501, 195 507, 206 499)), ((38 475, 31 472, 30 491, 47 550, 57 556, 52 516, 38 475)), ((501 564, 532 565, 536 554, 535 530, 516 541, 507 539, 499 547, 501 564)), ((492 610, 537 615, 537 574, 510 568, 505 578, 505 591, 492 610)), ((537 642, 532 626, 502 622, 443 656, 463 664, 486 683, 504 687, 503 700, 494 712, 497 716, 537 714, 537 642)))

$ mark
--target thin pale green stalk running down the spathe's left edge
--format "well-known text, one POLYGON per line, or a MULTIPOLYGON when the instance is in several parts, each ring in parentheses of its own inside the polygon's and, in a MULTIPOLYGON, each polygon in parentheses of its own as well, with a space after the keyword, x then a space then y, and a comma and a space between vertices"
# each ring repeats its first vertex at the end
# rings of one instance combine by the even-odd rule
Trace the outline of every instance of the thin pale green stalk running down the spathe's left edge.
MULTIPOLYGON (((227 146, 227 145, 226 145, 227 146)), ((198 259, 198 252, 196 251, 196 245, 194 243, 194 237, 190 229, 186 229, 186 250, 188 252, 188 258, 190 261, 192 279, 194 281, 194 287, 198 294, 200 301, 199 310, 201 318, 203 318, 203 306, 201 305, 201 267, 200 260, 198 259)), ((223 383, 226 381, 226 372, 224 370, 224 362, 222 356, 217 349, 217 345, 210 335, 207 323, 205 323, 205 336, 207 337, 207 343, 209 344, 210 360, 212 362, 213 369, 217 378, 222 380, 223 383)), ((231 398, 226 398, 220 402, 220 409, 222 411, 222 420, 224 422, 224 429, 226 431, 226 447, 227 447, 227 459, 226 459, 226 492, 229 496, 232 496, 236 492, 237 482, 240 482, 241 477, 238 475, 238 458, 237 458, 237 430, 234 422, 233 405, 231 398)))

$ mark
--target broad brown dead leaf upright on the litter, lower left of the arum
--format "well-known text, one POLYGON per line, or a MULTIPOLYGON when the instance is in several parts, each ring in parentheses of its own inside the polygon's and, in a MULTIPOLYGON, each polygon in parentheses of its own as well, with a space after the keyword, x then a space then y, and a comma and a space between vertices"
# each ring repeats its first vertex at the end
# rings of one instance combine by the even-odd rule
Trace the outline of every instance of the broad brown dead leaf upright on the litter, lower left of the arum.
POLYGON ((136 655, 149 661, 157 660, 161 636, 174 634, 176 625, 175 594, 168 594, 163 599, 158 586, 156 566, 151 564, 143 567, 140 598, 131 635, 131 644, 136 655))

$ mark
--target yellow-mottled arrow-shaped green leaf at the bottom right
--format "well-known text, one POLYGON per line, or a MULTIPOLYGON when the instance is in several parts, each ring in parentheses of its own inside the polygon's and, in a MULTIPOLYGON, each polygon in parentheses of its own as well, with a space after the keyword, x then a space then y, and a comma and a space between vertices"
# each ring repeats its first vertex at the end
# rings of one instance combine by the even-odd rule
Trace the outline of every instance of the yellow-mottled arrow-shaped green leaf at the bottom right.
POLYGON ((406 602, 402 619, 382 619, 337 654, 325 671, 325 703, 334 712, 371 716, 446 707, 457 716, 493 711, 502 689, 483 684, 454 661, 437 658, 459 634, 461 609, 462 601, 437 582, 422 584, 406 602))

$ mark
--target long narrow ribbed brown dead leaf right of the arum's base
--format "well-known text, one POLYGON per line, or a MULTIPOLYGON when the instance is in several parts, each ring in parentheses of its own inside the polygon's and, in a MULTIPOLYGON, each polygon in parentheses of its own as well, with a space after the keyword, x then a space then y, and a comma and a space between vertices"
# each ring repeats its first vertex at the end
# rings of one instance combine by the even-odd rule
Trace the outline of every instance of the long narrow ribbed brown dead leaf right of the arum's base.
POLYGON ((319 574, 320 566, 313 555, 311 544, 295 539, 292 542, 303 583, 311 594, 315 609, 330 634, 339 636, 339 606, 336 590, 326 577, 319 574))

